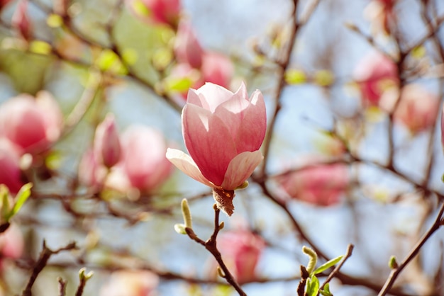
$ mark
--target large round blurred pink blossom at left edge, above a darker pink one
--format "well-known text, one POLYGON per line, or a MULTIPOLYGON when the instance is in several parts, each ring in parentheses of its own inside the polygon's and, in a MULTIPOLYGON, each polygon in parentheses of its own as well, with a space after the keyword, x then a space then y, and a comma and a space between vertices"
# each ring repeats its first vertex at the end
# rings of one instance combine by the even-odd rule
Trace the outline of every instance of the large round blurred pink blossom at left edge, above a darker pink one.
POLYGON ((47 91, 33 98, 21 94, 0 106, 0 136, 23 149, 38 154, 58 140, 62 129, 62 113, 47 91))

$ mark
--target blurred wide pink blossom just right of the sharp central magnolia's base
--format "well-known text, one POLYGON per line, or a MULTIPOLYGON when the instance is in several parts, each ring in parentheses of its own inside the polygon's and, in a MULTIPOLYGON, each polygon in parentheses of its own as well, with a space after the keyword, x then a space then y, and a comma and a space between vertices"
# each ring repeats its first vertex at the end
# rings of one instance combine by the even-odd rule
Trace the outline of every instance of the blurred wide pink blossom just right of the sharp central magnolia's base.
POLYGON ((348 188, 349 174, 344 164, 320 164, 279 176, 277 182, 292 198, 329 206, 339 203, 348 188))

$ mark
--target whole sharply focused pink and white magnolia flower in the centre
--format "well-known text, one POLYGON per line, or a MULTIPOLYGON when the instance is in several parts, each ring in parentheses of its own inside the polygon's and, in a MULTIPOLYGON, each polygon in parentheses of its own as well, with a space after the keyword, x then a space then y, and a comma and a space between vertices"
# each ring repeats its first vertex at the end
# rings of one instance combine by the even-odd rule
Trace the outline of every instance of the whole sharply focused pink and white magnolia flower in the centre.
POLYGON ((267 117, 260 91, 250 98, 242 84, 232 93, 207 83, 190 89, 182 110, 182 134, 190 155, 167 150, 167 159, 211 188, 234 190, 260 161, 267 117))

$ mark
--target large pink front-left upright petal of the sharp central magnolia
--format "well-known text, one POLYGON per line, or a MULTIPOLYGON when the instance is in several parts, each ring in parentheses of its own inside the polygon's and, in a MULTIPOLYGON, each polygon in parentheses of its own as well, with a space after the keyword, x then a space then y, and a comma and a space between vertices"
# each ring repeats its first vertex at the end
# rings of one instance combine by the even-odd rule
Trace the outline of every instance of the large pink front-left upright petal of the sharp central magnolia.
POLYGON ((187 104, 182 112, 185 145, 201 173, 220 186, 237 154, 225 123, 209 110, 187 104))

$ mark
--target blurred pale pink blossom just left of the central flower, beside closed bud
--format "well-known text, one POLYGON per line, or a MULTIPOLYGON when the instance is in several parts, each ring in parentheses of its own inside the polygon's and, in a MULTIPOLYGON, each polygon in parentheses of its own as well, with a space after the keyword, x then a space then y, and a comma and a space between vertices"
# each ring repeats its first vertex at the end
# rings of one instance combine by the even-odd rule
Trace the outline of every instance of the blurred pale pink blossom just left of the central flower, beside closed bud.
POLYGON ((164 183, 172 172, 165 158, 165 138, 150 127, 133 125, 121 135, 122 158, 111 171, 110 186, 150 193, 164 183), (113 181, 114 180, 114 181, 113 181))

